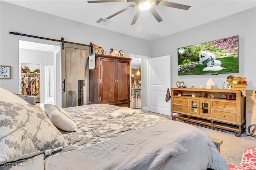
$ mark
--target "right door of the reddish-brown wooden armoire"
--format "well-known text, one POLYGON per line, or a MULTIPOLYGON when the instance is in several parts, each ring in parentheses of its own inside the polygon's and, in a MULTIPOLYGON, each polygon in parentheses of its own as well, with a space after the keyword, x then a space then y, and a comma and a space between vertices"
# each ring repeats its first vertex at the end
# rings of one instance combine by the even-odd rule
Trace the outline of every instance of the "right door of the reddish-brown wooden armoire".
POLYGON ((117 102, 129 101, 130 69, 129 63, 116 61, 116 99, 117 102))

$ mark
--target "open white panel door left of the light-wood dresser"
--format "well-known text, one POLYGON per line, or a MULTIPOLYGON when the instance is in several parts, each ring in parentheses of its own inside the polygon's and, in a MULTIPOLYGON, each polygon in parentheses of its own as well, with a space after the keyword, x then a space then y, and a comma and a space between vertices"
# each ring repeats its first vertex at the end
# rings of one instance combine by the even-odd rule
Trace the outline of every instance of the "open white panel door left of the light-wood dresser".
POLYGON ((148 111, 170 116, 171 100, 165 101, 171 86, 171 56, 148 59, 148 111))

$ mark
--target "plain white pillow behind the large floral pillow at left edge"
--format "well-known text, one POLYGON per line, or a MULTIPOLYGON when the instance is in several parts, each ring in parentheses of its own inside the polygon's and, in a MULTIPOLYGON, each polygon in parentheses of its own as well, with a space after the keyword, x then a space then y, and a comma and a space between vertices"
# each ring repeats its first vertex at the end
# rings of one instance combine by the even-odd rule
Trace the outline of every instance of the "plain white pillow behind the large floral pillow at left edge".
POLYGON ((0 87, 0 101, 4 102, 15 102, 15 103, 26 103, 27 101, 15 95, 14 93, 0 87))

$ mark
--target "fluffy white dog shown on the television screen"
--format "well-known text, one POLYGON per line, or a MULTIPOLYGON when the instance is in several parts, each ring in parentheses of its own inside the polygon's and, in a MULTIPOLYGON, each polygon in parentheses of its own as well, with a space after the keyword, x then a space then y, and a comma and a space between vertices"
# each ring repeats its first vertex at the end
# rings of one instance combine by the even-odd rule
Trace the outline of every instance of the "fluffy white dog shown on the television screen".
POLYGON ((206 50, 201 50, 199 53, 200 63, 203 65, 203 71, 219 71, 224 69, 221 67, 221 61, 216 60, 216 57, 213 53, 206 50))

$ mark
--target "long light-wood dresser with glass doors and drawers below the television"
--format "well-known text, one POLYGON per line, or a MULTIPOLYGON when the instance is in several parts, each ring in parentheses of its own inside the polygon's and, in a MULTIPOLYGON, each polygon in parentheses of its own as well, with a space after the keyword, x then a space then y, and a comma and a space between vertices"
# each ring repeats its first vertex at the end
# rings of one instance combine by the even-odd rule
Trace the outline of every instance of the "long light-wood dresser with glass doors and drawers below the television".
POLYGON ((222 128, 238 137, 245 127, 244 104, 240 90, 172 88, 172 120, 222 128), (227 94, 232 98, 226 99, 227 94))

